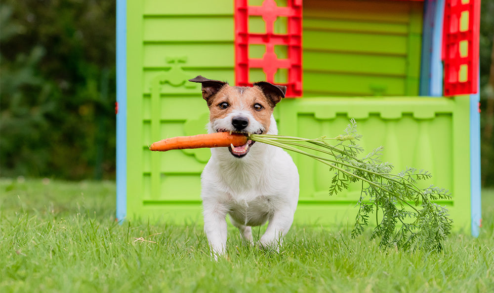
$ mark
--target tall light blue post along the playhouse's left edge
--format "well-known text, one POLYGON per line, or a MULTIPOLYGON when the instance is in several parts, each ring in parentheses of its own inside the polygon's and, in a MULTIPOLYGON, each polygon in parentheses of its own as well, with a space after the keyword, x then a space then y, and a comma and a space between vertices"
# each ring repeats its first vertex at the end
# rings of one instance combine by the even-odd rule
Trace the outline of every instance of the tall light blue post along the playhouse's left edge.
POLYGON ((117 219, 127 215, 127 1, 117 0, 117 219))

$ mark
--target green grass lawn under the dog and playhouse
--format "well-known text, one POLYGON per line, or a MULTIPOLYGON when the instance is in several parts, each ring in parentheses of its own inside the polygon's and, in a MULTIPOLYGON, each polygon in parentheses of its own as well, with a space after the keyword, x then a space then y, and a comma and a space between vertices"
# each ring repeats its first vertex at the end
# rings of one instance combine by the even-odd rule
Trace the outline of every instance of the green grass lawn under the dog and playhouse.
POLYGON ((441 253, 381 250, 345 227, 292 227, 277 254, 243 245, 230 227, 218 262, 200 225, 118 225, 113 182, 1 179, 0 195, 2 293, 494 290, 493 189, 480 236, 453 234, 441 253))

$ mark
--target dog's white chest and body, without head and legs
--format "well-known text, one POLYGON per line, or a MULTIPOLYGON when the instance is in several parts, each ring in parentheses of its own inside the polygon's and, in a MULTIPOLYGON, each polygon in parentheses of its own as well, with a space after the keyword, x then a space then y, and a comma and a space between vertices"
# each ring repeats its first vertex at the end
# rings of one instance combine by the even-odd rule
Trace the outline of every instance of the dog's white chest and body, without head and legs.
POLYGON ((238 224, 259 226, 277 212, 293 214, 298 174, 291 158, 281 149, 263 145, 255 145, 249 155, 254 156, 231 163, 229 153, 214 150, 202 174, 205 217, 222 211, 238 224))

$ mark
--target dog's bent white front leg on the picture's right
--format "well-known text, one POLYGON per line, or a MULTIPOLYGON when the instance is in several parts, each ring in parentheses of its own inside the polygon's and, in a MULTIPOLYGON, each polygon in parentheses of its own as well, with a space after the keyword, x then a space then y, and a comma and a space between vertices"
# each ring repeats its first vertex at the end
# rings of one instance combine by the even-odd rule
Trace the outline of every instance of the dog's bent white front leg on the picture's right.
POLYGON ((293 223, 293 212, 284 209, 277 211, 268 223, 266 232, 259 239, 259 244, 263 248, 275 249, 280 252, 280 246, 285 236, 293 223))

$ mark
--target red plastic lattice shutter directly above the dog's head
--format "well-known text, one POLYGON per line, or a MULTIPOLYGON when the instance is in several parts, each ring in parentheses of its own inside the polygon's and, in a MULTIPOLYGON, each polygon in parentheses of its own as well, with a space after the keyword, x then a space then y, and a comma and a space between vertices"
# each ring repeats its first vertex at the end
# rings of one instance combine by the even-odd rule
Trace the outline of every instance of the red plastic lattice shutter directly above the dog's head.
POLYGON ((235 0, 235 78, 238 86, 250 86, 250 68, 260 68, 266 81, 274 83, 279 68, 288 69, 287 97, 302 96, 302 0, 288 0, 287 7, 278 7, 274 0, 264 0, 262 6, 249 6, 248 0, 235 0), (249 16, 261 16, 265 33, 248 31, 249 16), (287 18, 287 33, 274 33, 278 17, 287 18), (249 58, 249 45, 265 45, 262 58, 249 58), (280 59, 274 48, 287 46, 288 58, 280 59))

